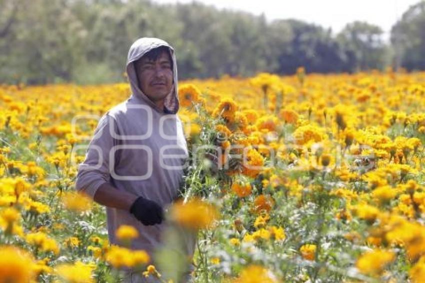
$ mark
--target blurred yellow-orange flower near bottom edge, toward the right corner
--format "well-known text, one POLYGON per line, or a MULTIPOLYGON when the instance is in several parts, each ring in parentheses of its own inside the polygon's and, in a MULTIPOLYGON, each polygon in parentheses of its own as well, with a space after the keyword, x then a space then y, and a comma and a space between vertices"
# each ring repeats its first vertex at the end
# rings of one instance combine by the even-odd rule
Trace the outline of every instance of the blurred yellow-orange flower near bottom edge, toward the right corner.
POLYGON ((373 249, 366 251, 357 259, 356 267, 365 274, 379 274, 394 258, 395 254, 392 251, 373 249))

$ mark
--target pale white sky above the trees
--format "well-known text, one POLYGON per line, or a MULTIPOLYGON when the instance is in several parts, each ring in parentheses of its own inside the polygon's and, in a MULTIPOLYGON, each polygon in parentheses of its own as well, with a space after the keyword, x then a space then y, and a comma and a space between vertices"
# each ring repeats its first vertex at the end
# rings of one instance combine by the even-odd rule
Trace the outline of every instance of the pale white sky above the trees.
MULTIPOLYGON (((190 3, 192 0, 153 0, 158 3, 190 3)), ((217 8, 243 10, 256 15, 264 13, 267 20, 295 18, 331 27, 333 33, 354 20, 380 26, 389 38, 391 26, 402 13, 420 0, 196 0, 217 8)))

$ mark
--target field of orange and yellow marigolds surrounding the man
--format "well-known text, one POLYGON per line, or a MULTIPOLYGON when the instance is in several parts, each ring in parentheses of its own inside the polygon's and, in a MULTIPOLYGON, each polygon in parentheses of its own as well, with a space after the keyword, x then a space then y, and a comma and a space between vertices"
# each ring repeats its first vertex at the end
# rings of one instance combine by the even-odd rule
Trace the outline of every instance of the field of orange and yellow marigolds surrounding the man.
MULTIPOLYGON (((0 282, 176 281, 176 233, 150 265, 134 228, 109 245, 104 208, 74 190, 129 91, 0 87, 0 282)), ((190 158, 166 217, 197 233, 195 281, 425 281, 424 72, 190 80, 179 99, 190 158)))

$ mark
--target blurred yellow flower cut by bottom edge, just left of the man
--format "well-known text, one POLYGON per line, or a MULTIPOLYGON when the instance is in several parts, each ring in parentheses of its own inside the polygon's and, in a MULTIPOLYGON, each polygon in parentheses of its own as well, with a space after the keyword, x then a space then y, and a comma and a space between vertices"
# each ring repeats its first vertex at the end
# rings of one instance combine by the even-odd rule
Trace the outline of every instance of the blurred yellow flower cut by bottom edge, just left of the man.
POLYGON ((91 272, 95 268, 95 264, 85 264, 81 261, 76 261, 74 264, 65 263, 58 265, 56 274, 62 279, 70 283, 90 283, 94 282, 91 277, 91 272))

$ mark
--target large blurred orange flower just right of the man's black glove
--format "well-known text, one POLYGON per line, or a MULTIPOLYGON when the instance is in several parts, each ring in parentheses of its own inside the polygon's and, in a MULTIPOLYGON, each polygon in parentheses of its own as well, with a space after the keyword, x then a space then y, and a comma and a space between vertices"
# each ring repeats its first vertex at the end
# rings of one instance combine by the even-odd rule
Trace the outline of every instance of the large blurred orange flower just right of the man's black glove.
POLYGON ((171 207, 171 217, 180 225, 189 229, 202 229, 218 219, 217 209, 199 199, 187 203, 175 202, 171 207))

